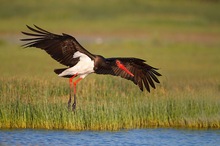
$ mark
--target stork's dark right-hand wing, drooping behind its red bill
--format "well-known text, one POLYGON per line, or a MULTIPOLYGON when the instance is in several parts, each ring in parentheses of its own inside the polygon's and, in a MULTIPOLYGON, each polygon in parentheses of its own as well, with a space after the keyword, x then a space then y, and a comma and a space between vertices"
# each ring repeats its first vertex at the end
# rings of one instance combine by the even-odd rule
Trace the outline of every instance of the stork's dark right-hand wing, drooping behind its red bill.
POLYGON ((154 68, 145 63, 144 60, 138 58, 107 58, 106 63, 110 68, 99 68, 95 71, 97 74, 111 74, 121 76, 122 78, 133 81, 143 91, 143 85, 150 92, 150 86, 155 87, 155 82, 160 83, 157 76, 161 76, 154 68), (129 75, 124 70, 116 65, 116 60, 119 60, 134 76, 129 75))

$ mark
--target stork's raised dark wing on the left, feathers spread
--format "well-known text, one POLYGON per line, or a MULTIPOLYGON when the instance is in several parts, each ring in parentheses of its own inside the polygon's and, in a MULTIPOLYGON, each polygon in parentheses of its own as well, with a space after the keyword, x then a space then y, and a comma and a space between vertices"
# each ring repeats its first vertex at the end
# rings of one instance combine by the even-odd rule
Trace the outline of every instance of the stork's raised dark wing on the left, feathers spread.
POLYGON ((32 33, 22 32, 32 37, 21 39, 21 41, 27 41, 23 45, 25 48, 36 47, 45 50, 53 59, 66 66, 74 66, 79 61, 79 58, 73 58, 77 51, 86 54, 91 59, 94 58, 94 55, 84 49, 74 37, 68 34, 54 34, 34 26, 35 28, 32 28, 27 25, 32 33))

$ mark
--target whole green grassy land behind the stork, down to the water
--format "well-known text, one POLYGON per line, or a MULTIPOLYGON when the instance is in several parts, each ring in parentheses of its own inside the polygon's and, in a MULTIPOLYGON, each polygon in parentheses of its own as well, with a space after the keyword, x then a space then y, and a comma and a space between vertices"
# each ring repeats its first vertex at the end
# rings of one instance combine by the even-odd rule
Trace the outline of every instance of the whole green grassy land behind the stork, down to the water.
POLYGON ((1 2, 0 128, 220 128, 219 2, 53 2, 1 2), (20 47, 20 31, 33 23, 73 34, 95 54, 146 59, 160 68, 161 84, 147 93, 121 78, 90 75, 69 112, 68 80, 53 73, 63 66, 20 47))

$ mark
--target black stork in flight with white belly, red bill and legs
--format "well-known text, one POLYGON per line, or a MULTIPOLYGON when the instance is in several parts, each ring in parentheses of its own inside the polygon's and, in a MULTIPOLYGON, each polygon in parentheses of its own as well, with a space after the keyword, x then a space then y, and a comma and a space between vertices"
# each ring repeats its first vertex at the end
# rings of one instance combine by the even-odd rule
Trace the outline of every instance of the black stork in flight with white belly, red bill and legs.
POLYGON ((27 25, 32 33, 22 32, 32 38, 21 39, 27 41, 23 46, 36 47, 45 50, 53 59, 67 66, 62 69, 55 69, 54 72, 60 77, 69 78, 70 97, 68 108, 71 107, 72 87, 74 91, 74 102, 72 110, 76 108, 76 85, 77 83, 91 73, 110 74, 120 76, 131 80, 143 91, 143 85, 150 92, 150 86, 155 88, 156 83, 160 83, 157 76, 161 76, 156 70, 145 63, 145 60, 139 58, 104 58, 101 55, 95 55, 87 51, 80 43, 68 34, 54 34, 46 31, 36 25, 32 28, 27 25), (72 82, 73 78, 79 78, 72 82))

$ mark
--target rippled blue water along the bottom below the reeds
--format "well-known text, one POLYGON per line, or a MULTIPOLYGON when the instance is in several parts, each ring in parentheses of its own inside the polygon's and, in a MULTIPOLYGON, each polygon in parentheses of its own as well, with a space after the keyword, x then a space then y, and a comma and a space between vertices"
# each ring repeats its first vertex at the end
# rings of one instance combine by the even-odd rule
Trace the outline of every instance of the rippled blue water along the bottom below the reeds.
POLYGON ((220 130, 135 129, 122 131, 0 130, 0 146, 149 145, 220 146, 220 130))

